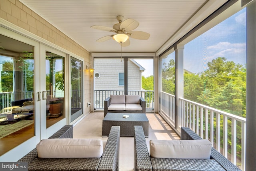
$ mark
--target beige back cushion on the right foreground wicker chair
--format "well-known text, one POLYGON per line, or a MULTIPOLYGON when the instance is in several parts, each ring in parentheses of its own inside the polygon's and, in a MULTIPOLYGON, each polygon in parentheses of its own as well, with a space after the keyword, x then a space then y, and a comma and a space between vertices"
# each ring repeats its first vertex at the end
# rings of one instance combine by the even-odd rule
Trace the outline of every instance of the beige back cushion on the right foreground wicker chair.
POLYGON ((210 159, 212 143, 200 140, 150 140, 150 156, 176 159, 210 159))

